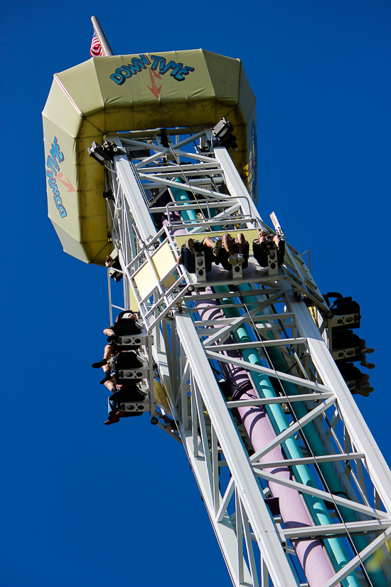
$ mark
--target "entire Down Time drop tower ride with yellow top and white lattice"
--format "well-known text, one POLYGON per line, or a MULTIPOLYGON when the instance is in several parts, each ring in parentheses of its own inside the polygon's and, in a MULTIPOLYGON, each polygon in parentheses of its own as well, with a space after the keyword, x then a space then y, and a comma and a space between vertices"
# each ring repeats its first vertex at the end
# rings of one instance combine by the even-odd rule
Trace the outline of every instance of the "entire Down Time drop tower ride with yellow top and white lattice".
POLYGON ((48 213, 66 253, 109 265, 110 319, 139 316, 124 415, 183 444, 236 587, 390 586, 390 470, 336 363, 359 350, 333 347, 360 316, 259 216, 242 63, 113 55, 92 22, 104 55, 56 74, 43 110, 48 213), (249 243, 228 270, 197 244, 225 233, 249 243))

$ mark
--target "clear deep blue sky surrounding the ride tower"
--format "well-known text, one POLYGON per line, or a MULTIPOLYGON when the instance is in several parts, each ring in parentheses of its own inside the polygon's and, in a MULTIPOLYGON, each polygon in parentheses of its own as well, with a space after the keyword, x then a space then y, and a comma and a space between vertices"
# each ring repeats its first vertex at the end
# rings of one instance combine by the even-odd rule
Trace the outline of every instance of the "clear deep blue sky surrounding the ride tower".
MULTIPOLYGON (((376 352, 357 403, 391 462, 388 0, 4 2, 1 14, 1 583, 229 586, 181 446, 149 418, 106 427, 90 367, 108 323, 102 268, 47 218, 41 111, 53 73, 114 53, 205 48, 257 95, 259 211, 311 250, 322 291, 353 295, 376 352)), ((217 122, 217 121, 216 121, 217 122)))

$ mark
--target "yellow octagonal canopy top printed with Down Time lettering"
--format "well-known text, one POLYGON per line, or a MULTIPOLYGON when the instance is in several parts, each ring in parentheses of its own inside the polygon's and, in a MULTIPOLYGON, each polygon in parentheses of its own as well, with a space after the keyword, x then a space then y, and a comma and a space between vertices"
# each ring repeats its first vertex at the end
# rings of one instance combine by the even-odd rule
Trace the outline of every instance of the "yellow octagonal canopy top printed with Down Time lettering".
POLYGON ((92 58, 54 75, 43 110, 48 216, 66 253, 103 265, 109 243, 103 166, 87 147, 105 134, 235 127, 232 152, 257 201, 255 95, 239 59, 196 49, 92 58))

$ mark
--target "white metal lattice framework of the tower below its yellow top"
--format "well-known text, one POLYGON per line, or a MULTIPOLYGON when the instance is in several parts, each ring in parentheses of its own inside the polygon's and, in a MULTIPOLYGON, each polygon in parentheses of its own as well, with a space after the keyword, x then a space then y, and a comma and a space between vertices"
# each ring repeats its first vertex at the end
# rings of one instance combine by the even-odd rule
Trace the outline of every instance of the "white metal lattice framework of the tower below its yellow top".
MULTIPOLYGON (((136 303, 149 335, 151 417, 183 443, 232 583, 390 585, 390 470, 307 307, 320 315, 328 306, 290 245, 276 275, 251 256, 239 275, 214 267, 206 281, 178 265, 188 236, 275 231, 226 149, 211 149, 210 129, 166 136, 168 147, 159 129, 107 137, 127 151, 107 166, 112 240, 124 307, 136 303), (250 397, 237 395, 232 374, 250 381, 250 397), (262 448, 252 445, 245 408, 271 430, 262 448), (279 487, 299 495, 309 524, 273 512, 279 487), (320 544, 326 578, 300 559, 305 544, 320 544)), ((111 312, 110 288, 109 297, 111 312)))

